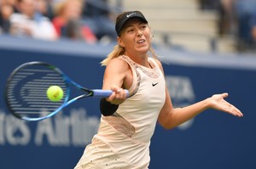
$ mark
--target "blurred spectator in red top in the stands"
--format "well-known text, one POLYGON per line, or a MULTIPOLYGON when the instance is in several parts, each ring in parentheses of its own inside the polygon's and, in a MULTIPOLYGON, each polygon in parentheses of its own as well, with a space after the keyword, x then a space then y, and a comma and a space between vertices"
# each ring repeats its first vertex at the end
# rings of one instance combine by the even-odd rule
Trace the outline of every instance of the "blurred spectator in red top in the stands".
POLYGON ((96 36, 81 20, 83 2, 66 0, 55 6, 55 18, 52 20, 59 37, 68 37, 85 42, 96 42, 96 36))

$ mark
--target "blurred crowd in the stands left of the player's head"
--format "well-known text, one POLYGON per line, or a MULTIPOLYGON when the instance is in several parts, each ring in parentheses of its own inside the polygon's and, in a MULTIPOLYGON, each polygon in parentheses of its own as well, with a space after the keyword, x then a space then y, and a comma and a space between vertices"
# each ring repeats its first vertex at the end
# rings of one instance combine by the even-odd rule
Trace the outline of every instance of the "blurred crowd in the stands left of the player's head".
POLYGON ((116 39, 107 0, 0 0, 0 34, 95 43, 116 39))

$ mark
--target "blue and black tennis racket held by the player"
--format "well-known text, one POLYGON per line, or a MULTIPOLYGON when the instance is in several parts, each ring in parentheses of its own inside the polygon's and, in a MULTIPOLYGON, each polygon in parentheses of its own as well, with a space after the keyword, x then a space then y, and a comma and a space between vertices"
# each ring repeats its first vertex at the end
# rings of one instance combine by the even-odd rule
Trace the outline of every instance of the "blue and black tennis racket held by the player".
MULTIPOLYGON (((128 91, 125 90, 127 97, 128 91)), ((41 121, 49 118, 67 105, 87 97, 108 97, 112 90, 88 89, 73 82, 54 65, 44 62, 27 62, 17 67, 9 76, 5 99, 9 110, 16 117, 26 121, 41 121), (69 99, 71 85, 84 93, 69 99), (51 86, 59 86, 63 97, 59 101, 51 101, 47 90, 51 86)))

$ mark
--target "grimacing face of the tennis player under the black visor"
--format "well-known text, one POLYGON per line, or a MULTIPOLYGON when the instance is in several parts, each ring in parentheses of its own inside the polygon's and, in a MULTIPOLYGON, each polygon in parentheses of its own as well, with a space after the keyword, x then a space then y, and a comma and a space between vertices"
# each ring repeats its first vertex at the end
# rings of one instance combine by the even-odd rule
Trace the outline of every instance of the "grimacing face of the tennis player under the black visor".
POLYGON ((147 54, 151 46, 150 36, 148 24, 135 18, 125 23, 118 41, 119 45, 125 48, 126 54, 147 54))

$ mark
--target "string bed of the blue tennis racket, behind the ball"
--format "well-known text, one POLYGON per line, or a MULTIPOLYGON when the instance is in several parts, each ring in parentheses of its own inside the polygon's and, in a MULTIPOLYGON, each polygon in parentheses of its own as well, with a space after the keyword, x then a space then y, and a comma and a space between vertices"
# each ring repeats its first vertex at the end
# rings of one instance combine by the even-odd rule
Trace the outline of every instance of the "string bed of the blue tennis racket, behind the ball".
POLYGON ((55 111, 65 102, 67 84, 54 68, 45 65, 28 65, 16 70, 9 79, 7 100, 15 115, 40 117, 55 111), (54 85, 63 90, 63 98, 57 102, 47 97, 47 89, 54 85))

